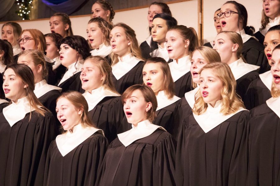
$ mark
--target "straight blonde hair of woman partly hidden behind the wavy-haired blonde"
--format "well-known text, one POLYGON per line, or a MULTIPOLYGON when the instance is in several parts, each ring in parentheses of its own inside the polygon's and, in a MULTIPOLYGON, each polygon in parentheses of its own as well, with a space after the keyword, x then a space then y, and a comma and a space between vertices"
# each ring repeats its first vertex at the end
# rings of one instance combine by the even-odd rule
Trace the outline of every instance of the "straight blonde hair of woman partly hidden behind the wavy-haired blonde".
MULTIPOLYGON (((219 53, 210 47, 205 47, 205 46, 197 47, 193 51, 192 55, 194 54, 195 51, 198 51, 202 55, 204 60, 207 61, 207 63, 221 62, 221 56, 219 55, 219 53)), ((192 79, 192 86, 194 88, 197 87, 197 84, 193 82, 193 79, 192 79)))

